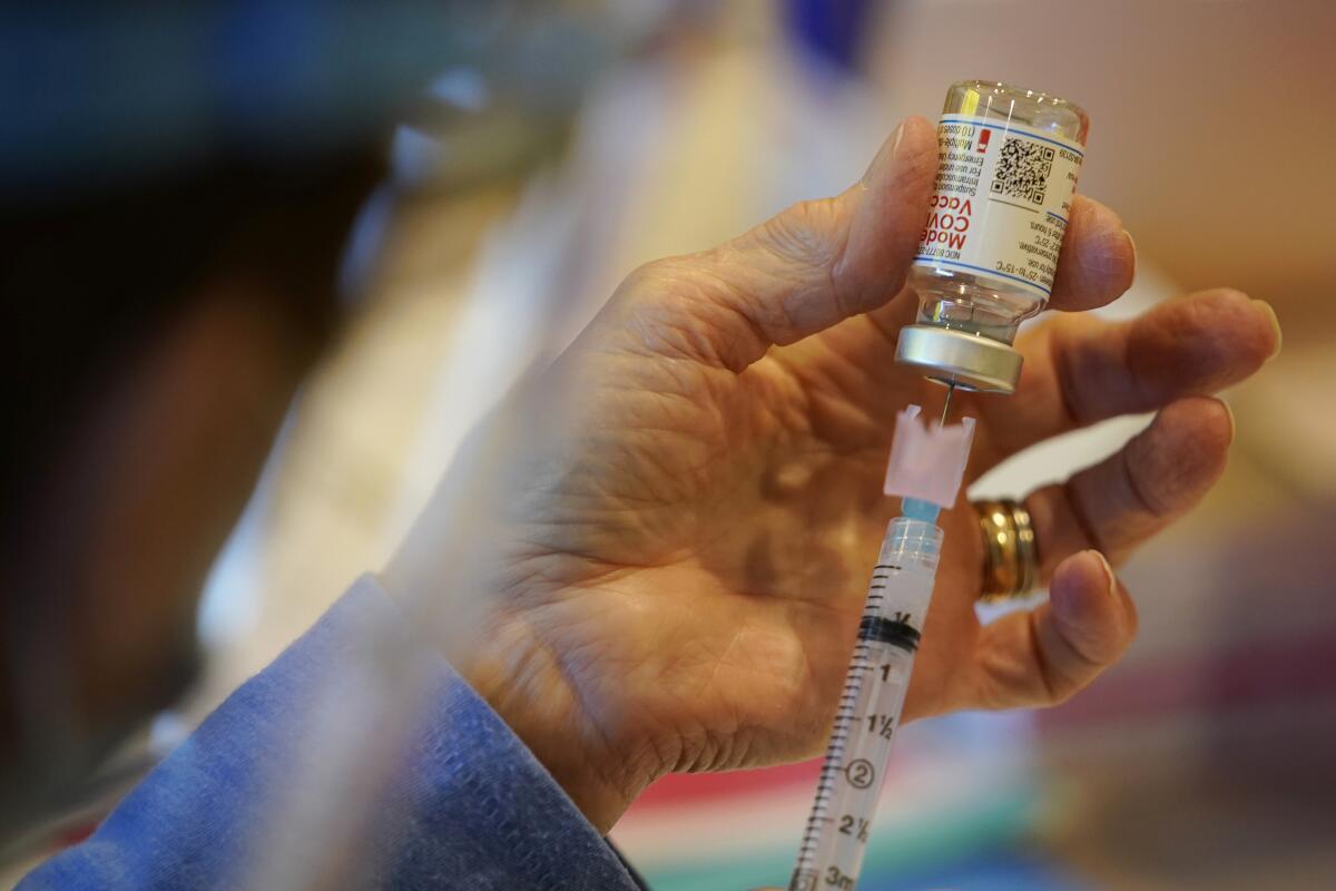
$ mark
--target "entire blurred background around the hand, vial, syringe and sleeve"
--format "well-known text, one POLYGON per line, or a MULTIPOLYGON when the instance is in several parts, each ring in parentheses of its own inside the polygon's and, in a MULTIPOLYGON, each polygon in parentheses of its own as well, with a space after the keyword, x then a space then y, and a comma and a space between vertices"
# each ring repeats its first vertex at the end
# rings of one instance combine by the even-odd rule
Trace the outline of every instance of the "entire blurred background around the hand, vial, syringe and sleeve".
MULTIPOLYGON (((0 879, 379 566, 628 270, 846 187, 982 76, 1089 110, 1081 191, 1138 247, 1110 315, 1233 285, 1285 349, 1126 568, 1126 663, 911 728, 860 887, 1332 886, 1333 35, 1320 0, 4 4, 0 879)), ((660 891, 780 884, 814 776, 669 777, 615 838, 660 891)))

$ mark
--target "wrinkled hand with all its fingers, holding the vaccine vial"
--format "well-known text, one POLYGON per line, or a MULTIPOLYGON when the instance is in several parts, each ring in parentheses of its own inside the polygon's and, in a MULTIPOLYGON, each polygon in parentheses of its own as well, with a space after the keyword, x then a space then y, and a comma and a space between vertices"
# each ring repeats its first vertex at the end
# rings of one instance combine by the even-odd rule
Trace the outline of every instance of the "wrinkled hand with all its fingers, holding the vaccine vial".
MULTIPOLYGON (((898 506, 880 494, 895 411, 943 397, 894 362, 935 168, 933 127, 907 120, 842 195, 633 273, 510 397, 561 402, 564 422, 522 458, 498 613, 462 671, 601 830, 665 772, 822 749, 898 506)), ((1051 307, 1108 303, 1133 263, 1118 218, 1078 198, 1051 307)), ((1277 347, 1268 306, 1208 291, 1130 323, 1059 315, 1018 341, 1015 395, 958 394, 953 414, 978 419, 966 482, 1067 430, 1158 415, 1030 496, 1050 586, 1033 612, 979 625, 974 513, 942 514, 906 716, 1057 703, 1112 664, 1137 620, 1100 553, 1118 562, 1214 482, 1232 418, 1201 394, 1277 347)))

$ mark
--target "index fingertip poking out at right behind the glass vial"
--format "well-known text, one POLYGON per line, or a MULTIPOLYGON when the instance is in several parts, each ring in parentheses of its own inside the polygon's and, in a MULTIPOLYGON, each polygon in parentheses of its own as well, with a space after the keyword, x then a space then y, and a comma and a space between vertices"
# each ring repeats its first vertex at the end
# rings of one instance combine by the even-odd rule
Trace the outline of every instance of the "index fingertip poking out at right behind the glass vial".
POLYGON ((1132 287, 1137 248, 1122 219, 1097 200, 1077 195, 1062 238, 1049 307, 1093 310, 1132 287))

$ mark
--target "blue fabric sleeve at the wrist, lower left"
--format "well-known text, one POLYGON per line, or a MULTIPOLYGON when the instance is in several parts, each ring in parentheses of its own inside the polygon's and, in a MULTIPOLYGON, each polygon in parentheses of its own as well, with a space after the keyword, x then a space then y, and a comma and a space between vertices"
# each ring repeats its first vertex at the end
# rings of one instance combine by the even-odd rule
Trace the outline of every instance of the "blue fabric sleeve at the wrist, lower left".
POLYGON ((19 884, 235 887, 633 891, 637 882, 365 577, 87 842, 19 884), (390 651, 393 673, 369 659, 390 651), (405 709, 389 693, 409 677, 418 695, 405 709), (405 713, 414 720, 393 720, 405 713))

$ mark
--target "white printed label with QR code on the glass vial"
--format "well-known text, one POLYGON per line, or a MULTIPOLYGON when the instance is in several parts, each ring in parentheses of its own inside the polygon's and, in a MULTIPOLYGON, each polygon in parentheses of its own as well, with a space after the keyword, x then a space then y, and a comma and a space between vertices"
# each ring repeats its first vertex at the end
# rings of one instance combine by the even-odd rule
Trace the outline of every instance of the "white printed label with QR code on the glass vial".
POLYGON ((915 266, 1001 278, 1045 299, 1085 156, 1015 122, 943 115, 941 166, 915 266))

